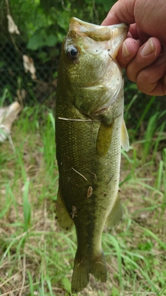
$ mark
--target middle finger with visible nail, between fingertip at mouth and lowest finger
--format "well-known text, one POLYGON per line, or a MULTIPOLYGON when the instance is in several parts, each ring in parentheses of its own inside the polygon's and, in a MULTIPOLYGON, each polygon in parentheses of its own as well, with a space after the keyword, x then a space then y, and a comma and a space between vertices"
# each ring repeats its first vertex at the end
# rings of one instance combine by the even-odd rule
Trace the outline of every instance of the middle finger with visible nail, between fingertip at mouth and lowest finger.
POLYGON ((133 58, 127 66, 127 77, 129 80, 136 82, 138 73, 158 58, 160 49, 160 41, 155 37, 149 38, 149 40, 138 49, 135 58, 133 58))

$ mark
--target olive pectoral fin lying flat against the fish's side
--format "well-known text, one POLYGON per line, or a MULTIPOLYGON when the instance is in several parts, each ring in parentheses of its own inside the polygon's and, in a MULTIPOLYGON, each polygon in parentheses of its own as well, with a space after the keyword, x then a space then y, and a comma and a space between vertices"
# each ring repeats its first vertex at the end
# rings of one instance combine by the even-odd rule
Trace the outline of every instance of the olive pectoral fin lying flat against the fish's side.
POLYGON ((103 122, 100 124, 98 138, 96 141, 96 153, 102 157, 106 156, 111 145, 113 123, 106 125, 103 122))

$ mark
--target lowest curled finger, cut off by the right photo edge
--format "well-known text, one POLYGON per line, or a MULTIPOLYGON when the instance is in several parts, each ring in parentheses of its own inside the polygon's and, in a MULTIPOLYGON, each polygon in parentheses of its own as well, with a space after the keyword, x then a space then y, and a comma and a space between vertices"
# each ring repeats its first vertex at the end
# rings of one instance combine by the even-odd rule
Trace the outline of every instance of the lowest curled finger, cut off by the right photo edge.
POLYGON ((138 89, 145 94, 164 96, 166 94, 166 53, 163 53, 149 67, 138 73, 138 89))

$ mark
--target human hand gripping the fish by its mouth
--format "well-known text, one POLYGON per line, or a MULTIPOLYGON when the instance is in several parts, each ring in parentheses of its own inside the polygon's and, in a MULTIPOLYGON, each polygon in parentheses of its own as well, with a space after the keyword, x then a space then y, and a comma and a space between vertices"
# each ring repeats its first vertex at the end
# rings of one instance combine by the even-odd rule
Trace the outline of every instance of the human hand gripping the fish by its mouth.
POLYGON ((165 0, 119 0, 102 25, 131 24, 117 60, 141 92, 166 94, 165 0))

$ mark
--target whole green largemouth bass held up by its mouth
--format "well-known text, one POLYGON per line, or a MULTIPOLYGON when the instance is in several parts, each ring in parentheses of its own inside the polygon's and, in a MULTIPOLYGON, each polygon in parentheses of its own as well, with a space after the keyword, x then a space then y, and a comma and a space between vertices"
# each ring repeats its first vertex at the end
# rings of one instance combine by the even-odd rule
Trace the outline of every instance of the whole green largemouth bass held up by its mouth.
POLYGON ((55 142, 59 170, 56 219, 75 225, 71 292, 89 274, 107 281, 102 250, 105 223, 122 220, 119 196, 121 146, 129 150, 124 123, 124 77, 116 60, 129 26, 98 26, 71 18, 62 43, 55 101, 55 142))

